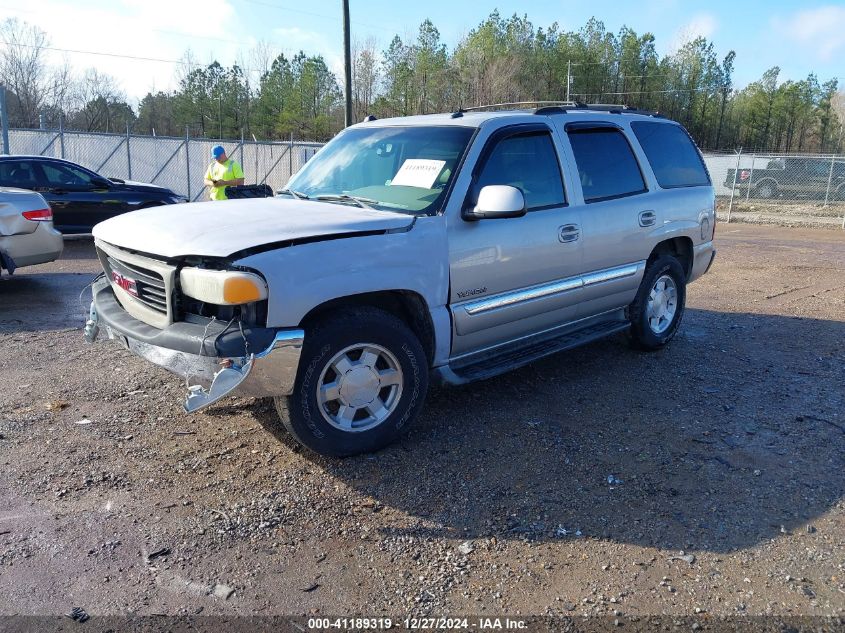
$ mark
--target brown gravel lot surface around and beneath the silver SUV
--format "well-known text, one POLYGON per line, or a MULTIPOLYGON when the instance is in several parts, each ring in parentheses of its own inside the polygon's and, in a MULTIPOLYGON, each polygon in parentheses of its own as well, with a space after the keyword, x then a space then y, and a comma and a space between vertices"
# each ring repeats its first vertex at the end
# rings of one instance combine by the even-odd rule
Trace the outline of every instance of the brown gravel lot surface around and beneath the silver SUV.
POLYGON ((378 454, 83 342, 0 280, 0 614, 845 615, 845 232, 724 225, 681 331, 461 389, 378 454))

